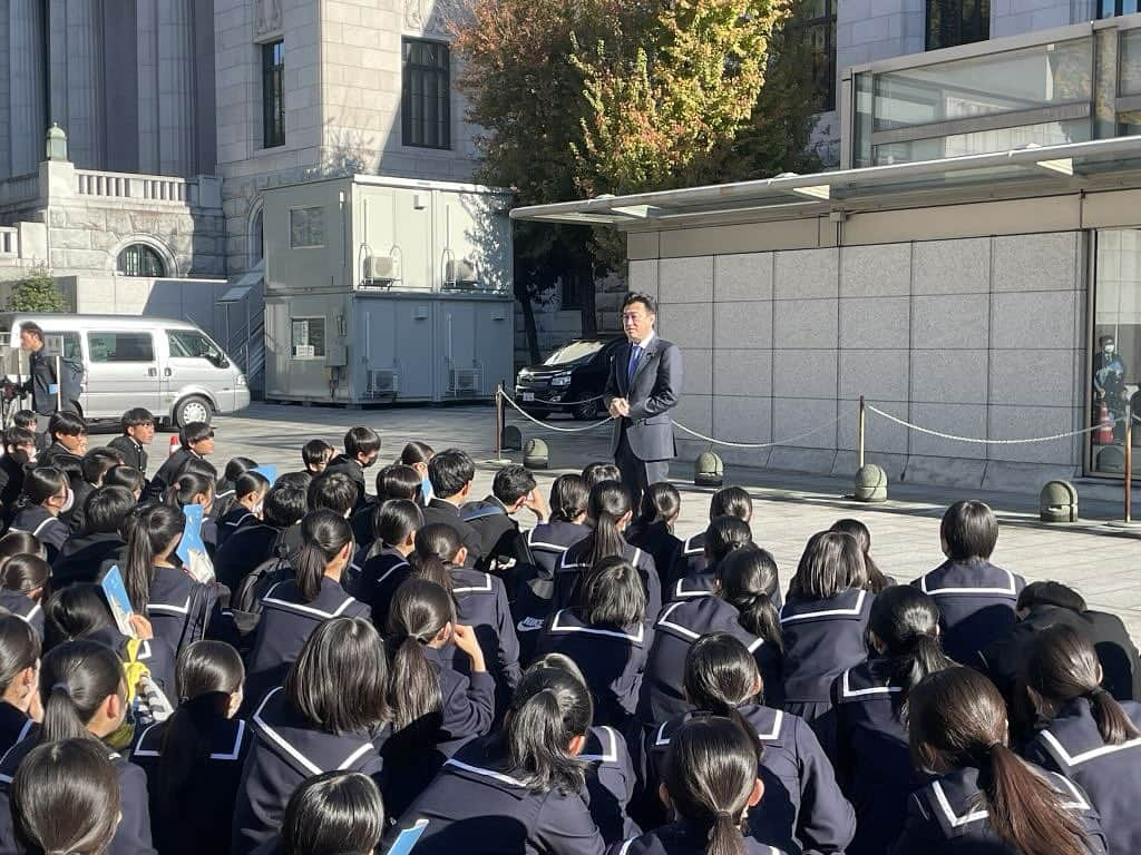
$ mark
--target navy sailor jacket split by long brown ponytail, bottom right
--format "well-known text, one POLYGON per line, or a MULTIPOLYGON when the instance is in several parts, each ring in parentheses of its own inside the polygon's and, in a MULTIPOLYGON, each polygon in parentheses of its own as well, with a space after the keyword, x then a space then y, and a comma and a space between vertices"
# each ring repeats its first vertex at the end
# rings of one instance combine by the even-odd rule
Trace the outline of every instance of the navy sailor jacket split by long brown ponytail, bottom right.
MULTIPOLYGON (((1091 855, 1107 852, 1098 812, 1089 797, 1071 781, 1047 773, 1087 834, 1091 855)), ((980 803, 979 771, 962 768, 940 775, 907 799, 904 833, 891 855, 1020 855, 990 828, 989 813, 980 803)))

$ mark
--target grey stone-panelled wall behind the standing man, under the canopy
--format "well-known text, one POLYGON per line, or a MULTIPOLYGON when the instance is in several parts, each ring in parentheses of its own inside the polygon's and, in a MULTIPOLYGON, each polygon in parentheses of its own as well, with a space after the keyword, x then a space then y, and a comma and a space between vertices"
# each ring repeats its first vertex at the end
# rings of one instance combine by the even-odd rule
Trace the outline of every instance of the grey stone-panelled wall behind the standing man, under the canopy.
MULTIPOLYGON (((1086 251, 1079 233, 631 262, 682 347, 677 418, 733 463, 856 469, 858 400, 974 438, 1084 427, 1086 251), (833 422, 840 418, 839 423, 833 422)), ((679 445, 690 457, 704 443, 679 445)), ((1009 488, 1073 477, 1081 439, 952 442, 871 416, 869 461, 893 479, 1009 488)))

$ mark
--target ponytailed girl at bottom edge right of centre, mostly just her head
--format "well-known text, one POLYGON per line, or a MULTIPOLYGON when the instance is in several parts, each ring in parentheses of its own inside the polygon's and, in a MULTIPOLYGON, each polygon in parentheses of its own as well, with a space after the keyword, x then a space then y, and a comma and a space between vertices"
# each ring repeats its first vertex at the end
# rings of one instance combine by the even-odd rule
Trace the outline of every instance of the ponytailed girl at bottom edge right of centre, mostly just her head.
POLYGON ((614 847, 612 855, 779 855, 748 833, 766 796, 763 748, 741 719, 694 718, 670 740, 658 796, 674 821, 614 847))

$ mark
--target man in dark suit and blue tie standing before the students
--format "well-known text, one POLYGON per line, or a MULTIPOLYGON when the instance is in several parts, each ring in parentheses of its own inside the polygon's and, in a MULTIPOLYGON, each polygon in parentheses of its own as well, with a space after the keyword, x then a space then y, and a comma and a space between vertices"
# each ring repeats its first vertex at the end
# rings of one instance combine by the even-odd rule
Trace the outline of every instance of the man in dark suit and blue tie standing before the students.
POLYGON ((681 350, 654 333, 657 303, 631 292, 622 301, 626 343, 614 351, 602 401, 614 418, 610 451, 633 507, 666 480, 677 455, 671 415, 681 394, 681 350))

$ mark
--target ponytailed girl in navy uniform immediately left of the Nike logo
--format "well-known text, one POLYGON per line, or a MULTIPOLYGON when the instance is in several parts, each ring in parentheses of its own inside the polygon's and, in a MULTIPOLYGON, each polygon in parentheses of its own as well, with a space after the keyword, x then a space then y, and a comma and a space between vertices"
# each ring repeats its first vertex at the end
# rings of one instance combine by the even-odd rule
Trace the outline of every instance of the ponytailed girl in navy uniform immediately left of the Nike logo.
MULTIPOLYGON (((434 458, 436 459, 436 458, 434 458)), ((464 626, 476 630, 488 670, 499 691, 499 708, 510 698, 519 682, 519 638, 507 598, 503 581, 491 573, 464 567, 464 547, 460 545, 454 528, 429 523, 416 531, 416 553, 439 559, 448 570, 455 611, 464 626)), ((466 661, 461 660, 466 667, 466 661)), ((462 668, 461 668, 462 669, 462 668)))

